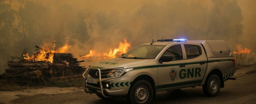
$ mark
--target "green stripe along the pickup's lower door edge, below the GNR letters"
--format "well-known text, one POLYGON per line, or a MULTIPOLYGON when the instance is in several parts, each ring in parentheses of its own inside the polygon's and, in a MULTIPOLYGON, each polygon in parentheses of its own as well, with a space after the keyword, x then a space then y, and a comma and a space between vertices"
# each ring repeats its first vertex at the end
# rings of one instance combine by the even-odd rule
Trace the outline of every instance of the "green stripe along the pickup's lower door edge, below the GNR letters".
POLYGON ((190 84, 197 84, 197 83, 201 83, 201 82, 202 82, 202 80, 179 82, 179 83, 171 83, 171 84, 159 85, 159 86, 156 86, 155 88, 156 89, 172 88, 172 87, 179 87, 179 86, 185 86, 185 85, 190 85, 190 84))

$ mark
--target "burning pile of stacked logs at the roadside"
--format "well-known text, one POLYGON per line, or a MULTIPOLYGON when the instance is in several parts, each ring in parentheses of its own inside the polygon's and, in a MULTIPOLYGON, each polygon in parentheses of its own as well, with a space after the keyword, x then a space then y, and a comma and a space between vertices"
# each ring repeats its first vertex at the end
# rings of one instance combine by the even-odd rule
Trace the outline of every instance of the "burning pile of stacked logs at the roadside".
POLYGON ((46 83, 53 77, 77 77, 84 73, 85 68, 79 66, 84 60, 77 61, 73 54, 47 52, 43 48, 36 47, 40 51, 36 50, 32 56, 24 54, 23 58, 12 57, 7 63, 9 68, 4 69, 5 73, 1 77, 21 83, 38 81, 46 83), (38 60, 38 57, 45 60, 38 60))

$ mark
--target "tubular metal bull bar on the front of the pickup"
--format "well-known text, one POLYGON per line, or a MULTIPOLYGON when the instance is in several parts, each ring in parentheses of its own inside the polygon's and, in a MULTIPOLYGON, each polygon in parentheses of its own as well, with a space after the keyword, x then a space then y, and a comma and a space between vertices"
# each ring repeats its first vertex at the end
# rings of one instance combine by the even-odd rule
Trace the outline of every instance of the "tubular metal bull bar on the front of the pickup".
MULTIPOLYGON (((82 74, 82 76, 84 77, 85 80, 86 80, 86 78, 87 78, 87 76, 88 76, 90 70, 98 70, 98 71, 99 71, 99 79, 98 79, 98 80, 99 80, 99 84, 100 84, 100 89, 101 89, 101 91, 97 90, 97 92, 98 92, 98 93, 101 93, 102 96, 104 96, 104 97, 110 97, 110 96, 106 96, 106 95, 104 94, 104 92, 103 92, 103 86, 102 86, 102 81, 106 81, 106 80, 111 80, 111 79, 119 78, 119 77, 121 77, 121 76, 125 73, 125 71, 126 71, 126 69, 125 69, 124 67, 104 68, 104 69, 93 68, 93 67, 87 67, 86 70, 85 70, 85 72, 82 74), (124 71, 123 71, 119 76, 101 79, 101 70, 109 70, 109 69, 111 69, 111 70, 120 70, 120 69, 123 69, 124 71)), ((85 92, 91 94, 91 91, 90 91, 90 90, 87 91, 87 89, 89 89, 89 88, 87 88, 86 82, 84 82, 84 86, 85 86, 85 88, 84 88, 85 92)))

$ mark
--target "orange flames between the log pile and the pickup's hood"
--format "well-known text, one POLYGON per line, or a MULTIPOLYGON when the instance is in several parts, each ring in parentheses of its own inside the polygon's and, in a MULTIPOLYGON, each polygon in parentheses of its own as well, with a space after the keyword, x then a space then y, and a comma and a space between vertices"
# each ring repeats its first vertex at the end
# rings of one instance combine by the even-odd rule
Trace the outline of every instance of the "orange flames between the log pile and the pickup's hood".
POLYGON ((82 56, 81 59, 85 60, 95 60, 96 57, 101 60, 101 59, 113 59, 118 56, 121 56, 121 54, 126 53, 129 48, 131 47, 131 44, 127 42, 126 39, 124 39, 124 43, 120 42, 118 48, 114 48, 114 50, 109 49, 108 53, 97 53, 96 50, 90 50, 90 53, 82 56), (94 57, 94 58, 93 58, 94 57))

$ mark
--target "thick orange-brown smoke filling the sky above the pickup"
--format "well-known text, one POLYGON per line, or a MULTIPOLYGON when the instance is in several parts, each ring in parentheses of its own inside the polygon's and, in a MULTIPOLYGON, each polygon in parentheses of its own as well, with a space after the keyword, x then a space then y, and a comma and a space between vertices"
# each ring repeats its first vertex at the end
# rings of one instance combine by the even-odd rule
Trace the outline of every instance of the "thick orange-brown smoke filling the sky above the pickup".
MULTIPOLYGON (((151 23, 154 40, 162 36, 165 39, 225 40, 235 46, 242 42, 242 37, 247 37, 246 34, 255 32, 255 24, 251 28, 252 24, 248 22, 255 22, 249 15, 255 17, 255 12, 248 11, 251 8, 247 7, 247 4, 254 7, 251 2, 254 1, 21 0, 9 3, 6 0, 1 2, 1 8, 5 8, 3 4, 10 4, 11 9, 6 11, 16 13, 10 33, 3 31, 5 24, 0 27, 1 40, 8 39, 5 35, 10 36, 10 41, 0 44, 1 66, 9 56, 20 56, 24 48, 32 53, 35 45, 43 46, 44 43, 61 47, 66 43, 66 37, 72 46, 69 52, 78 59, 91 49, 107 53, 124 39, 134 47, 152 41, 151 23), (4 47, 7 44, 8 47, 4 47)), ((1 17, 5 15, 3 11, 1 9, 1 17)), ((1 21, 6 22, 2 18, 1 21)), ((93 63, 86 61, 83 64, 93 63)))

